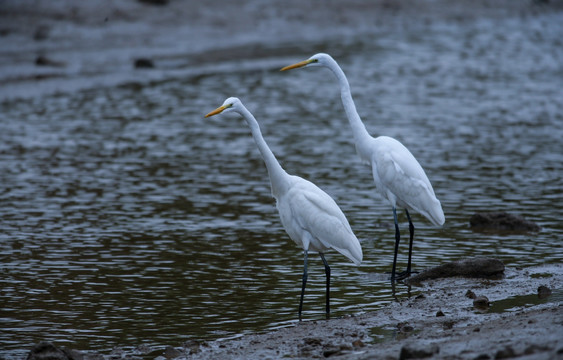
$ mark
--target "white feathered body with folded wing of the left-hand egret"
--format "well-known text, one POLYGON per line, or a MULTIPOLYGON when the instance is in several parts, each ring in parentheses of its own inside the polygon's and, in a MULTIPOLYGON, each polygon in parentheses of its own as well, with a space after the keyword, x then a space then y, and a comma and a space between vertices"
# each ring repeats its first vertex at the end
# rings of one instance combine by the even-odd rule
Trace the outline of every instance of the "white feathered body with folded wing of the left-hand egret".
POLYGON ((297 176, 278 199, 282 224, 289 236, 304 249, 333 248, 356 265, 362 261, 360 242, 336 202, 316 185, 297 176))

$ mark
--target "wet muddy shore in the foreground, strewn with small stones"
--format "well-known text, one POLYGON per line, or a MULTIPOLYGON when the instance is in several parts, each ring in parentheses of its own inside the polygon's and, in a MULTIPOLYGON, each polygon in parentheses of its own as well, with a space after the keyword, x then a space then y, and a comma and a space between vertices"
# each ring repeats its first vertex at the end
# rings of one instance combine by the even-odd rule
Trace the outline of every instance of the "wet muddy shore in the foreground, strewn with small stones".
POLYGON ((303 321, 235 339, 190 340, 165 349, 141 345, 110 353, 67 350, 67 354, 85 360, 559 359, 563 357, 562 288, 561 265, 506 268, 497 280, 429 280, 412 288, 420 291, 418 295, 396 299, 371 313, 303 321), (552 293, 538 294, 540 286, 552 293), (471 293, 488 298, 490 306, 474 304, 471 293))

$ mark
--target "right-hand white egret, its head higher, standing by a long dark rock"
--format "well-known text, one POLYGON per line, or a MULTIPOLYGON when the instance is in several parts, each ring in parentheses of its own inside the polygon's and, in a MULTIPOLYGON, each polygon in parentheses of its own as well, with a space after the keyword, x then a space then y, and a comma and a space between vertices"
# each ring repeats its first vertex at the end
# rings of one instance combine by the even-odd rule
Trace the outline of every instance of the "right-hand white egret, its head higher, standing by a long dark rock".
POLYGON ((418 211, 430 220, 432 224, 441 226, 444 224, 445 218, 440 201, 434 195, 434 189, 432 189, 432 185, 424 170, 403 144, 388 136, 374 138, 367 132, 362 119, 360 119, 360 115, 356 111, 348 79, 338 63, 330 55, 316 54, 307 60, 286 66, 281 71, 313 66, 327 67, 336 75, 340 84, 342 104, 354 134, 356 151, 363 162, 371 165, 373 180, 377 190, 393 207, 395 255, 393 257, 391 281, 395 281, 395 268, 397 266, 397 252, 400 241, 397 207, 405 209, 407 219, 409 220, 410 232, 409 260, 406 271, 397 274, 397 279, 403 279, 411 274, 414 225, 412 224, 409 210, 418 211))

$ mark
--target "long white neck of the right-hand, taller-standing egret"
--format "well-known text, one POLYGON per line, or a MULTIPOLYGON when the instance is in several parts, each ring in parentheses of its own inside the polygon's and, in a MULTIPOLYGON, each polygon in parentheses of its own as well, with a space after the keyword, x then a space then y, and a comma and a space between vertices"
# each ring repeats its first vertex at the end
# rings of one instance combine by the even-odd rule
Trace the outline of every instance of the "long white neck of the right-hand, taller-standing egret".
POLYGON ((352 99, 352 92, 350 91, 350 84, 348 83, 348 79, 346 78, 344 71, 342 71, 338 63, 333 59, 331 62, 329 62, 328 68, 332 70, 332 72, 338 79, 342 105, 344 105, 344 111, 346 112, 346 116, 348 116, 348 121, 350 122, 350 126, 352 127, 352 133, 354 134, 354 140, 356 141, 356 148, 359 152, 360 148, 358 147, 358 145, 369 141, 370 139, 372 139, 372 137, 366 130, 366 127, 362 122, 358 111, 356 110, 356 105, 354 104, 354 100, 352 99))

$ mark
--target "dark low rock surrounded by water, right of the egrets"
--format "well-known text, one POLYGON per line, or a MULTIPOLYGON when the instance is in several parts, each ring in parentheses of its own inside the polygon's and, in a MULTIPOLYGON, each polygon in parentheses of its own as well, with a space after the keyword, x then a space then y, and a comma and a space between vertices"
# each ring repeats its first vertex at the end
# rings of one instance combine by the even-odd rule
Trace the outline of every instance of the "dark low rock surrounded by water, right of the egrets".
POLYGON ((539 231, 538 224, 506 212, 475 213, 469 225, 476 230, 539 231))

